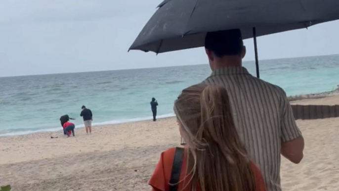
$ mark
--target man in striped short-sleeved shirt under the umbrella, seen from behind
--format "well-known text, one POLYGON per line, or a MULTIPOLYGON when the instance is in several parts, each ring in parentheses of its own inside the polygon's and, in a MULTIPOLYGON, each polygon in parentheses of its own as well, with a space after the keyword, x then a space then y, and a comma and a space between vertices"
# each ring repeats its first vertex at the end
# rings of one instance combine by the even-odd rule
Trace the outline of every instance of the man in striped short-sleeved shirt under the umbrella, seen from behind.
POLYGON ((242 67, 246 48, 240 30, 208 33, 205 49, 212 75, 203 83, 228 90, 236 128, 261 170, 267 191, 281 191, 281 154, 299 163, 304 148, 285 92, 242 67))

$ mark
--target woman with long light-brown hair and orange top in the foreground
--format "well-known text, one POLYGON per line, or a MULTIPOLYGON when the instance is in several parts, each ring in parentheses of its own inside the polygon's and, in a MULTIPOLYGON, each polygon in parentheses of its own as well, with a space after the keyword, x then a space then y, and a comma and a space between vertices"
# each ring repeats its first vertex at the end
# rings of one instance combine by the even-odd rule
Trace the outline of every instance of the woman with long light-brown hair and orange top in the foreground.
POLYGON ((174 112, 186 142, 178 180, 169 183, 178 149, 170 148, 149 181, 152 191, 265 191, 235 129, 226 89, 189 87, 175 101, 174 112))

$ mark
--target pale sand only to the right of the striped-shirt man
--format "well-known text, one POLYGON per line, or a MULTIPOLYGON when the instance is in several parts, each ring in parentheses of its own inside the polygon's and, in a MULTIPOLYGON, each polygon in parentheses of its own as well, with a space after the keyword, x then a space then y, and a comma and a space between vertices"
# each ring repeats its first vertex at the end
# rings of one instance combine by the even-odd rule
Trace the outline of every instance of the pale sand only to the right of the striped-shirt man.
MULTIPOLYGON (((339 105, 339 96, 294 101, 300 105, 339 105)), ((339 191, 339 118, 297 120, 305 139, 304 158, 282 158, 284 191, 339 191)))

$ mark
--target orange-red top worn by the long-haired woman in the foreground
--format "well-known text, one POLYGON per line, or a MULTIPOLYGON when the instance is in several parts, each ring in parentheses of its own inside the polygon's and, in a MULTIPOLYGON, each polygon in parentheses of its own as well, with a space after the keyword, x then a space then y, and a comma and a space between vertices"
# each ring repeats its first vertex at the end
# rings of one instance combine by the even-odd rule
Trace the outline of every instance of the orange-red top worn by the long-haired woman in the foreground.
MULTIPOLYGON (((152 191, 169 191, 169 180, 172 171, 172 164, 174 159, 175 148, 170 148, 161 153, 160 160, 155 167, 154 173, 149 180, 149 185, 152 186, 152 191)), ((181 172, 180 172, 180 180, 185 177, 185 160, 182 161, 181 172)), ((253 162, 250 163, 251 168, 254 173, 255 179, 255 191, 266 191, 264 181, 262 179, 262 175, 260 170, 255 166, 253 162)), ((182 184, 178 185, 178 191, 182 190, 182 184)), ((185 189, 184 191, 188 191, 189 189, 185 189)))

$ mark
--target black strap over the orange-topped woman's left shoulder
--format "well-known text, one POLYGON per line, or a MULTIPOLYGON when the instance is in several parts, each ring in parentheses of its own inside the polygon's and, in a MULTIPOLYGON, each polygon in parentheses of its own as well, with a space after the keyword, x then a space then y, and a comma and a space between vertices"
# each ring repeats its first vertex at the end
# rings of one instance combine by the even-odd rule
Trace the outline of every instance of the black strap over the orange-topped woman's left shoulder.
POLYGON ((183 155, 184 148, 176 147, 169 180, 169 191, 177 191, 178 189, 183 155))

